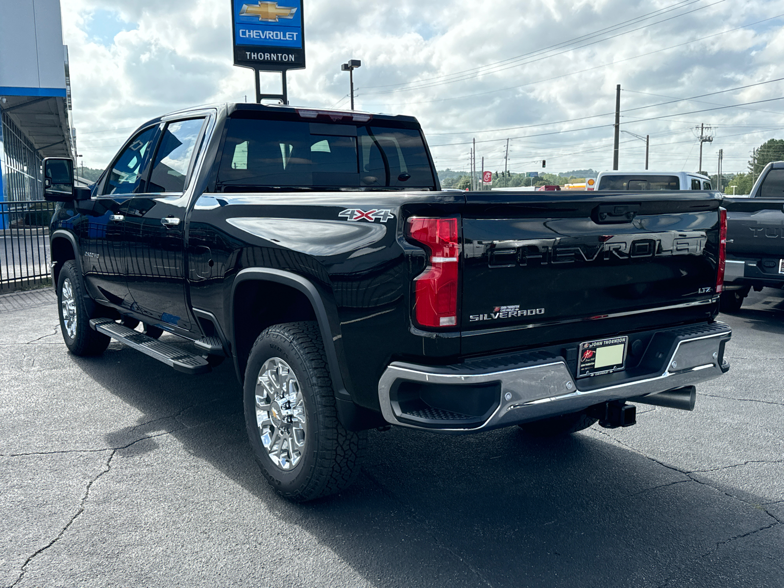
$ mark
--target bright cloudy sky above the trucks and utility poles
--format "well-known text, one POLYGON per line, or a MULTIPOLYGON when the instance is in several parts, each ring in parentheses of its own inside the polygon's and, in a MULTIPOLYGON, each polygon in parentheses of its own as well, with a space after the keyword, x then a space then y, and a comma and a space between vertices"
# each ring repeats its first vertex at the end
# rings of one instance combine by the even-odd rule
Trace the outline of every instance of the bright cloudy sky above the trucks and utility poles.
MULTIPOLYGON (((103 168, 133 128, 201 103, 252 100, 232 66, 227 0, 61 0, 74 125, 84 165, 103 168), (113 8, 112 5, 116 5, 113 8)), ((285 2, 281 2, 285 5, 285 2)), ((419 118, 439 169, 612 169, 615 85, 620 168, 746 170, 784 136, 784 0, 307 0, 307 69, 289 101, 419 118), (768 83, 761 83, 768 82, 768 83), (746 87, 743 87, 746 86, 746 87), (730 91, 727 91, 730 90, 730 91), (691 100, 683 100, 691 99, 691 100), (738 106, 742 105, 742 106, 738 106), (729 107, 728 107, 729 106, 729 107)), ((278 74, 265 77, 279 92, 278 74)))

